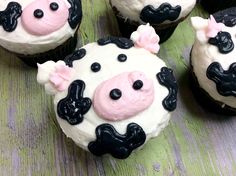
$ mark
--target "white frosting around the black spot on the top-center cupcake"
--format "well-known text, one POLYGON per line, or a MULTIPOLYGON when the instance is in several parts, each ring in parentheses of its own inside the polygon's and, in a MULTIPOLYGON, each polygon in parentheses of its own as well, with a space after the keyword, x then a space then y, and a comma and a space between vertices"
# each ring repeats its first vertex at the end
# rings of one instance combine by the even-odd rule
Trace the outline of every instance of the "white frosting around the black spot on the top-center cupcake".
MULTIPOLYGON (((152 5, 154 8, 158 8, 163 3, 169 3, 172 6, 181 6, 181 13, 178 19, 186 17, 194 8, 196 0, 110 0, 111 5, 116 7, 120 14, 129 18, 132 21, 137 21, 141 24, 144 22, 140 19, 140 13, 142 9, 147 5, 152 5)), ((165 23, 173 23, 171 21, 165 21, 165 23)))

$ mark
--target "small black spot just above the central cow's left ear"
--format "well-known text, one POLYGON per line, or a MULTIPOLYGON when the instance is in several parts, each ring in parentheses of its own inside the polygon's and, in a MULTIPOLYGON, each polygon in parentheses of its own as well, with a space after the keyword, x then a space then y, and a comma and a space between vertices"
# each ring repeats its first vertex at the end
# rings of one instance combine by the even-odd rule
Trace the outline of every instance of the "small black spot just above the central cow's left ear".
POLYGON ((69 67, 73 67, 73 61, 75 60, 80 60, 86 55, 86 50, 85 49, 79 49, 75 50, 72 54, 68 55, 65 59, 64 62, 66 65, 69 67))

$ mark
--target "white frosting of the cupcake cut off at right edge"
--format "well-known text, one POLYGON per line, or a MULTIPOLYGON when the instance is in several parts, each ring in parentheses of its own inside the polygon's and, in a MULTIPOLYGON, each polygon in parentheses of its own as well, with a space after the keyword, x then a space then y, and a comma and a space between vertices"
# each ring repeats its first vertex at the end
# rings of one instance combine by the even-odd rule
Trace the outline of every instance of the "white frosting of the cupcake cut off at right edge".
MULTIPOLYGON (((200 17, 192 18, 192 25, 196 30, 196 40, 192 48, 192 66, 199 85, 203 88, 213 99, 222 102, 228 106, 236 108, 236 98, 233 96, 222 96, 216 90, 216 84, 206 76, 208 66, 212 62, 219 62, 224 70, 228 70, 229 66, 236 62, 236 48, 228 54, 222 54, 218 48, 208 43, 205 36, 204 29, 207 27, 208 20, 200 17)), ((236 44, 236 26, 225 26, 222 31, 231 34, 234 45, 236 44)))

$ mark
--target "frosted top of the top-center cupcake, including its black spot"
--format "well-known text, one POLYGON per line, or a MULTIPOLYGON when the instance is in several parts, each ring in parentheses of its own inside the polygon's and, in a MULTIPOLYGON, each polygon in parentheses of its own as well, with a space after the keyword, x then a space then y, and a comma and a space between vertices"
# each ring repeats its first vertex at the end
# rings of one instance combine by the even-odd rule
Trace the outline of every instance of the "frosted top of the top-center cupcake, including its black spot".
POLYGON ((186 17, 196 0, 110 0, 119 13, 132 21, 168 24, 186 17))

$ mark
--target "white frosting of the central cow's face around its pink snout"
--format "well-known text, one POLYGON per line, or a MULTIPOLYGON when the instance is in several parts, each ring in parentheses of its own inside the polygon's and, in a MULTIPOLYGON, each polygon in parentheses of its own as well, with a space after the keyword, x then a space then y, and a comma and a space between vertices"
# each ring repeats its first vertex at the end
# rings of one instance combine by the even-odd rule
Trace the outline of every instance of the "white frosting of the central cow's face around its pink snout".
MULTIPOLYGON (((57 117, 63 132, 86 150, 88 150, 88 143, 96 140, 96 127, 103 123, 113 125, 119 133, 124 134, 126 133, 127 125, 134 122, 145 131, 146 141, 157 136, 168 124, 171 115, 162 105, 162 101, 169 91, 166 87, 160 85, 156 78, 156 74, 160 72, 162 67, 166 66, 165 63, 156 55, 142 48, 120 49, 115 44, 99 46, 97 43, 88 44, 83 48, 87 52, 85 57, 73 62, 73 68, 76 70, 73 80, 81 79, 85 82, 84 97, 89 97, 93 100, 95 89, 104 80, 108 80, 122 72, 141 71, 149 79, 153 80, 155 99, 148 109, 121 121, 108 121, 98 117, 93 106, 84 115, 83 122, 78 125, 70 125, 67 121, 57 117), (117 60, 119 54, 127 55, 127 61, 119 62, 117 60), (97 73, 92 72, 90 68, 94 62, 98 62, 101 65, 101 70, 97 73)), ((43 76, 43 72, 39 70, 38 75, 43 76)), ((44 78, 41 79, 44 80, 44 78)), ((55 109, 57 109, 57 103, 66 96, 67 90, 55 93, 55 109)))

